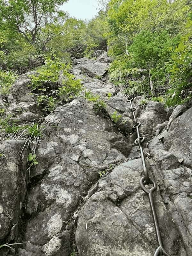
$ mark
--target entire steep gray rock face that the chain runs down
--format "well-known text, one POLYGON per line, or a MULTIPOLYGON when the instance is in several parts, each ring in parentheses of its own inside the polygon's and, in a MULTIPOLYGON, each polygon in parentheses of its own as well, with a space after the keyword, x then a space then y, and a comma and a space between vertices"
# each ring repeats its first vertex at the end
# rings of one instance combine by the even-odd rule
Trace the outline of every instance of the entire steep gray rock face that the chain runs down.
MULTIPOLYGON (((156 234, 139 183, 143 171, 132 112, 108 82, 108 62, 107 53, 98 52, 97 60, 75 60, 71 70, 86 92, 106 103, 105 115, 96 114, 82 92, 44 117, 27 86, 33 71, 11 88, 6 112, 12 121, 40 120, 45 128, 30 173, 25 141, 1 141, 0 240, 25 243, 0 249, 1 256, 154 255, 156 234), (114 112, 120 116, 116 123, 114 112)), ((154 203, 164 247, 172 256, 191 256, 192 108, 143 102, 136 97, 133 106, 158 184, 154 203)))

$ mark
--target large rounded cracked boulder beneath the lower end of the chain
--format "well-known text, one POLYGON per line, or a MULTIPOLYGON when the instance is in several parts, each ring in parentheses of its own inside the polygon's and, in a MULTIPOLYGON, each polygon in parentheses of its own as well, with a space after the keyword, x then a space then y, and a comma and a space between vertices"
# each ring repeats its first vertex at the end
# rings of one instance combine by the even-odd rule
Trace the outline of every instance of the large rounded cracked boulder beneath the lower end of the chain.
MULTIPOLYGON (((119 165, 99 183, 80 211, 76 229, 80 256, 154 254, 156 236, 148 198, 139 186, 141 175, 141 160, 136 159, 119 165)), ((166 249, 182 255, 183 245, 159 192, 154 201, 166 249)))

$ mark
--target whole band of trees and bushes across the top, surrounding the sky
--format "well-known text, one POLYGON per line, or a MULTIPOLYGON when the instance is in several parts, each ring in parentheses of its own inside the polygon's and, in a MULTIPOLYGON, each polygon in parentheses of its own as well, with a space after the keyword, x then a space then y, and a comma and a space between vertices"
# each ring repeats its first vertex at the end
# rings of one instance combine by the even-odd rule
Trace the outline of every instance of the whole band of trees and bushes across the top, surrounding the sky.
POLYGON ((161 96, 169 106, 191 100, 191 1, 98 0, 89 21, 61 11, 65 2, 0 0, 1 73, 24 73, 53 56, 68 64, 102 49, 113 60, 117 92, 161 96))

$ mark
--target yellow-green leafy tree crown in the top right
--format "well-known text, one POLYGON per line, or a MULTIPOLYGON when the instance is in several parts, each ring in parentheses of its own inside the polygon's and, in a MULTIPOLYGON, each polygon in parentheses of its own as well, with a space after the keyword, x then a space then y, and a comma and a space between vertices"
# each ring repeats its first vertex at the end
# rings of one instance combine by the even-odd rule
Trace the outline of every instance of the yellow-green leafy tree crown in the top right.
POLYGON ((127 45, 142 30, 166 30, 171 36, 186 30, 190 4, 187 0, 111 0, 108 4, 109 54, 118 56, 126 52, 127 45))

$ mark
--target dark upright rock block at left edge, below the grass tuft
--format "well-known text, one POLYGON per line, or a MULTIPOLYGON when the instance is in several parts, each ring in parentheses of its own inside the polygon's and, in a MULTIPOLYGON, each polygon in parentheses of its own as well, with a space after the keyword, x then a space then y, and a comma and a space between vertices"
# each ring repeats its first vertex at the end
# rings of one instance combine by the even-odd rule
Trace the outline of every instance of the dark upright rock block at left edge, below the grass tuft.
POLYGON ((24 142, 5 140, 0 152, 0 239, 17 238, 21 209, 27 191, 27 156, 24 142))

